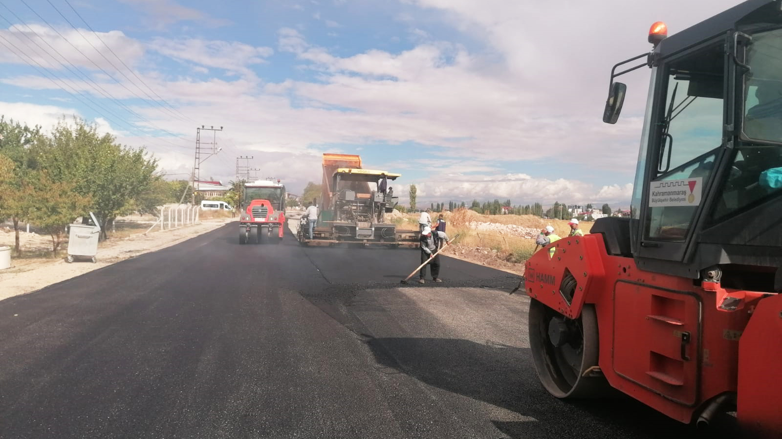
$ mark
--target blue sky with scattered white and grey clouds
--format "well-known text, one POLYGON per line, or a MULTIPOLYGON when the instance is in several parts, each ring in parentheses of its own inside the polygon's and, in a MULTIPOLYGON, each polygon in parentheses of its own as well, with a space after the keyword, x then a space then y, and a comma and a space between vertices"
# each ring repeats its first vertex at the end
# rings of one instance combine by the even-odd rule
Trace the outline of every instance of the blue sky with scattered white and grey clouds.
POLYGON ((648 50, 654 21, 675 32, 736 3, 26 1, 0 5, 0 112, 83 117, 172 178, 206 125, 223 149, 202 179, 253 156, 296 193, 342 152, 402 173, 396 193, 416 184, 421 202, 614 205, 629 202, 648 71, 623 78, 609 126, 611 66, 648 50))

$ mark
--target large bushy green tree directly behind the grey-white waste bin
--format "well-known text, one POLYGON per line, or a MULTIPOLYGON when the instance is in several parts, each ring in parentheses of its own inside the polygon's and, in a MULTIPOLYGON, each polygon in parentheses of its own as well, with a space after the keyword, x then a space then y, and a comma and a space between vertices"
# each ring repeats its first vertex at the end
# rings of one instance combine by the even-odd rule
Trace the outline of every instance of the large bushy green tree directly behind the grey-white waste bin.
POLYGON ((99 216, 102 238, 117 216, 132 212, 134 201, 155 180, 157 160, 143 148, 115 143, 100 135, 95 124, 74 119, 73 127, 60 120, 51 136, 39 136, 36 159, 56 182, 72 182, 74 191, 91 198, 89 209, 99 216))

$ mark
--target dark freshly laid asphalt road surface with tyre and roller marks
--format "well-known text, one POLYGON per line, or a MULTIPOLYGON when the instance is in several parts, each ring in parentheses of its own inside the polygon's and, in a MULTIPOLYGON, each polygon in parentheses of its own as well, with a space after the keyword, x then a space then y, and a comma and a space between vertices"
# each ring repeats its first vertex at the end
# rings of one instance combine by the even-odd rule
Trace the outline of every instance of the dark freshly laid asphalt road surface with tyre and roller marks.
POLYGON ((545 393, 508 273, 236 228, 0 302, 0 437, 688 436, 545 393))

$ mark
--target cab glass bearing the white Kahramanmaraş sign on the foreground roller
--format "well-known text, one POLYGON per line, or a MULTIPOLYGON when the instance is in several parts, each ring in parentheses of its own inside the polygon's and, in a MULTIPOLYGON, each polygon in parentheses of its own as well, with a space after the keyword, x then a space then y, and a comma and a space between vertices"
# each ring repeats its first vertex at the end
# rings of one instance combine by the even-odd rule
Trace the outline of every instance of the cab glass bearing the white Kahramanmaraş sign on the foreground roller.
POLYGON ((719 45, 669 62, 657 115, 645 238, 684 241, 723 142, 719 45))

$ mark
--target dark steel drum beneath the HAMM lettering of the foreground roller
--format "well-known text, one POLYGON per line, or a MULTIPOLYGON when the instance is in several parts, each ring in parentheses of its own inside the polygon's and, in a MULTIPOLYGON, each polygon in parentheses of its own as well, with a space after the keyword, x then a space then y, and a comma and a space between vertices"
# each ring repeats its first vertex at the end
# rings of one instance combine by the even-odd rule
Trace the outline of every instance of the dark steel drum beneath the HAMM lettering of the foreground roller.
POLYGON ((584 305, 569 319, 532 299, 529 303, 529 348, 540 384, 557 398, 599 398, 612 388, 592 369, 599 358, 597 313, 584 305), (586 376, 585 376, 586 375, 586 376))

